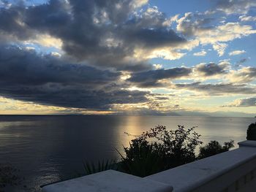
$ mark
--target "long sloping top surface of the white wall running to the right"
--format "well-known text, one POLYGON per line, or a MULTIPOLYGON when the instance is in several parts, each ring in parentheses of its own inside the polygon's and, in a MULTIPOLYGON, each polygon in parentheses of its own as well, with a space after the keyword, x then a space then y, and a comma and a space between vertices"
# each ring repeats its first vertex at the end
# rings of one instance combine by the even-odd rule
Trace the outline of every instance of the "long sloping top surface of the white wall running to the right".
MULTIPOLYGON (((252 144, 255 145, 256 142, 252 144)), ((241 147, 152 174, 146 178, 170 184, 174 191, 189 191, 189 188, 203 185, 253 158, 256 158, 256 147, 241 147)))

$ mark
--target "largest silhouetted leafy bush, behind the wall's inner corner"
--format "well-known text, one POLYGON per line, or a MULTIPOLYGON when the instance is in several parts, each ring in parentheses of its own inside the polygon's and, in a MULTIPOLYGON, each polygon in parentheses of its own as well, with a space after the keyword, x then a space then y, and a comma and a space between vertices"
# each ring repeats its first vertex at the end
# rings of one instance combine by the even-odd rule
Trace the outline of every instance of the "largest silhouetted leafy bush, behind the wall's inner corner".
POLYGON ((124 147, 125 156, 119 153, 121 171, 146 177, 195 161, 195 148, 203 142, 199 141, 200 135, 194 129, 178 126, 168 131, 165 126, 156 126, 143 132, 132 139, 129 147, 124 147))

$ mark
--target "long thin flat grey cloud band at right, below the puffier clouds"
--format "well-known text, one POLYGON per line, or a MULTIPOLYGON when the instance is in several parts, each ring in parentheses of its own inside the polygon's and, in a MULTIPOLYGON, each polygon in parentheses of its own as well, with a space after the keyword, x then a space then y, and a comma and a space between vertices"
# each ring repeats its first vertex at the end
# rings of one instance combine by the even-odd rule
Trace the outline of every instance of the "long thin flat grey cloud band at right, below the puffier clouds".
POLYGON ((209 95, 223 95, 225 93, 232 94, 255 94, 255 87, 247 87, 246 84, 218 83, 218 84, 202 84, 201 82, 193 82, 187 84, 175 84, 174 88, 187 89, 190 91, 200 91, 209 95))

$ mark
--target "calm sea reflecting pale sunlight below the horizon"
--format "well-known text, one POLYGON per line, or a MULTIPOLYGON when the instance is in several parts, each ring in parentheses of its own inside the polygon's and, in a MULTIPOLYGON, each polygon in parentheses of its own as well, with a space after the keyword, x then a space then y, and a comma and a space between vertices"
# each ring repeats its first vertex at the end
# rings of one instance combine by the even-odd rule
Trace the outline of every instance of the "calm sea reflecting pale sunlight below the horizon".
MULTIPOLYGON (((159 116, 0 116, 0 163, 9 162, 25 176, 31 191, 39 185, 82 172, 83 160, 118 158, 132 137, 163 125, 175 129, 198 126, 201 140, 235 142, 246 138, 255 118, 206 118, 159 116)), ((236 145, 237 147, 237 145, 236 145)), ((10 191, 22 191, 20 188, 10 191)), ((28 190, 26 190, 28 191, 28 190)))

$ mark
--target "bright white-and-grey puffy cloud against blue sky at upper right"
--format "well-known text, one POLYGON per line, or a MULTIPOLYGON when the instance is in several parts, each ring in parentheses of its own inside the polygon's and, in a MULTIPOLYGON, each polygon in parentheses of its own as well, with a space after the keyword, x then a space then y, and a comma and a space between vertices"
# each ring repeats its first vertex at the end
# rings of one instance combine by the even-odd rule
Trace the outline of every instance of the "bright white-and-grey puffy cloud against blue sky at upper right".
POLYGON ((219 56, 224 55, 227 42, 255 34, 256 30, 240 23, 222 23, 215 12, 187 12, 177 20, 177 31, 187 38, 197 39, 202 45, 212 45, 219 56))

